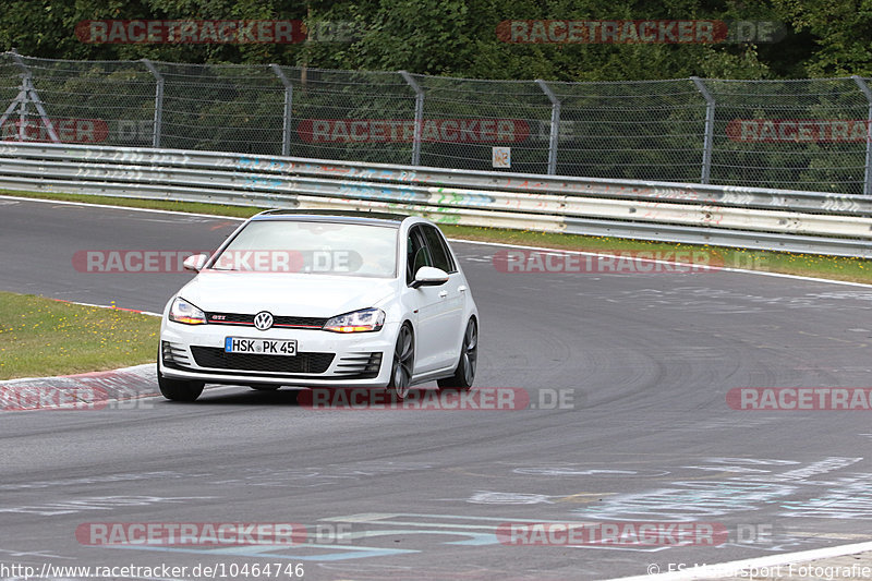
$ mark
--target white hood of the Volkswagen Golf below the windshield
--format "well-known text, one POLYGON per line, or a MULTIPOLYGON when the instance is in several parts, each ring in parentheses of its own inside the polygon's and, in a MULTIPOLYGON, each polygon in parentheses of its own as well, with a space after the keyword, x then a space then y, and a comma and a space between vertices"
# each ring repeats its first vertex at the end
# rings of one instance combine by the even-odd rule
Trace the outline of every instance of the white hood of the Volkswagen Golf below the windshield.
POLYGON ((332 317, 378 306, 395 279, 277 273, 203 271, 179 295, 210 313, 332 317))

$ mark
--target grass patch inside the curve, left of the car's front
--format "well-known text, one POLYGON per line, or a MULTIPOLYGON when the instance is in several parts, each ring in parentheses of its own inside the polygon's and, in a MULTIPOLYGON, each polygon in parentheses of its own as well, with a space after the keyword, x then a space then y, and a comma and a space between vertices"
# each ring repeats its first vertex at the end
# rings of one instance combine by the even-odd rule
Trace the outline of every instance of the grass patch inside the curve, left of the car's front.
POLYGON ((0 379, 153 363, 160 319, 0 292, 0 379))

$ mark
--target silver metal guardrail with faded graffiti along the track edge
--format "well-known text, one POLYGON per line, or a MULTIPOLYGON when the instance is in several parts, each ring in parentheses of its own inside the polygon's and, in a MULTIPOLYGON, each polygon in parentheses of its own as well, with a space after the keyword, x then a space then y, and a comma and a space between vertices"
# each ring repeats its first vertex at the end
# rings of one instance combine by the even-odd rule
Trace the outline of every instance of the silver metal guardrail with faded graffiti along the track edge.
POLYGON ((872 257, 868 196, 198 150, 8 143, 0 187, 872 257))

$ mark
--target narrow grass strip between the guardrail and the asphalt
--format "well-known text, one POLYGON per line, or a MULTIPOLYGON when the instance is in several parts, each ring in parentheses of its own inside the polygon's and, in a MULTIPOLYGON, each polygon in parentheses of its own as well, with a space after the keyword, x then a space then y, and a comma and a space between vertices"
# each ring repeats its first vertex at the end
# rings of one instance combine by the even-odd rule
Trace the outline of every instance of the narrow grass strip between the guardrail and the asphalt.
MULTIPOLYGON (((95 196, 84 194, 46 194, 31 192, 10 192, 0 190, 0 195, 15 195, 34 198, 50 198, 90 204, 107 204, 152 209, 170 209, 196 214, 211 214, 247 218, 268 208, 249 206, 222 206, 192 202, 165 202, 158 199, 135 199, 122 197, 95 196)), ((767 252, 744 249, 699 246, 667 242, 647 242, 607 237, 584 237, 577 234, 542 233, 526 230, 506 230, 499 228, 475 228, 470 226, 439 225, 449 238, 501 242, 525 246, 546 246, 562 250, 578 250, 603 253, 697 251, 715 256, 717 265, 730 268, 765 270, 807 277, 872 283, 872 261, 865 258, 845 258, 815 254, 794 254, 789 252, 767 252)))

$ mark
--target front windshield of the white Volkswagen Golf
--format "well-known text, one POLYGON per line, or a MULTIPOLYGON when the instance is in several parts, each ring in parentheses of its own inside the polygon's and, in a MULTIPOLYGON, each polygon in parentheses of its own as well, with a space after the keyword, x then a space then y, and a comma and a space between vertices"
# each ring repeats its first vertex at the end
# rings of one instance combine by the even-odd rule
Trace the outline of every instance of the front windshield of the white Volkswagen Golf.
POLYGON ((389 226, 254 220, 209 268, 390 278, 397 271, 397 232, 389 226))

